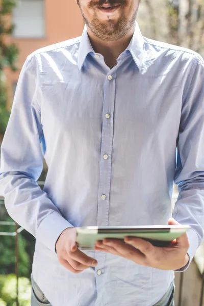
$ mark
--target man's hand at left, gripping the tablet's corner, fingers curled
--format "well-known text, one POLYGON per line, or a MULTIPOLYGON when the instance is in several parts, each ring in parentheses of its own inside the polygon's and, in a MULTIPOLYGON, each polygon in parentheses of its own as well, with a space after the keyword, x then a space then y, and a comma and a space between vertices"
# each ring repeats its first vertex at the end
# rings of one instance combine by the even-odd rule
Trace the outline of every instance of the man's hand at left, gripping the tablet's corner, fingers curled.
POLYGON ((76 231, 74 227, 67 228, 60 235, 56 243, 58 260, 67 270, 74 274, 85 269, 97 266, 97 261, 80 251, 76 244, 76 231))

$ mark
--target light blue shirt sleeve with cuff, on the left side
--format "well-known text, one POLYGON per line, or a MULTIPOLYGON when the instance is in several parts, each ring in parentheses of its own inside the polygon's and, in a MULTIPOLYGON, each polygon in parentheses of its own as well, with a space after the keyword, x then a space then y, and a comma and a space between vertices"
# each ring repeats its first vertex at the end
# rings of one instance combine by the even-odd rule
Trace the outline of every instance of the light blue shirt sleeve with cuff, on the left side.
POLYGON ((27 58, 20 72, 1 146, 0 194, 9 215, 55 252, 60 234, 72 225, 37 184, 43 168, 40 143, 44 136, 33 61, 27 58))

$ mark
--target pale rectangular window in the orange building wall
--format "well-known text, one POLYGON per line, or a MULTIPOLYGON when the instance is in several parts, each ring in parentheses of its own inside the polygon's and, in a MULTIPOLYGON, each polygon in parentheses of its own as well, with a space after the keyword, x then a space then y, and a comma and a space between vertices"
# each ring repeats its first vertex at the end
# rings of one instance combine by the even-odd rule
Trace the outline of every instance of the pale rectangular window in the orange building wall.
POLYGON ((13 10, 14 37, 40 38, 45 36, 44 0, 19 0, 13 10))

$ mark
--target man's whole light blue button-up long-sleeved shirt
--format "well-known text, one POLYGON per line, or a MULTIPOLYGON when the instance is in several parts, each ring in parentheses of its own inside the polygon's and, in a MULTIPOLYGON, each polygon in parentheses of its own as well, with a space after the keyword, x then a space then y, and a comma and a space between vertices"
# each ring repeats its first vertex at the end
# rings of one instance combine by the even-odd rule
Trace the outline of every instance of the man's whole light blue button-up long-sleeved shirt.
POLYGON ((136 25, 117 62, 110 69, 94 53, 85 28, 30 55, 16 88, 0 193, 36 237, 33 277, 53 306, 151 306, 174 278, 88 250, 98 266, 72 274, 55 252, 69 226, 167 224, 174 181, 173 216, 191 226, 191 260, 203 238, 203 60, 142 37, 136 25))

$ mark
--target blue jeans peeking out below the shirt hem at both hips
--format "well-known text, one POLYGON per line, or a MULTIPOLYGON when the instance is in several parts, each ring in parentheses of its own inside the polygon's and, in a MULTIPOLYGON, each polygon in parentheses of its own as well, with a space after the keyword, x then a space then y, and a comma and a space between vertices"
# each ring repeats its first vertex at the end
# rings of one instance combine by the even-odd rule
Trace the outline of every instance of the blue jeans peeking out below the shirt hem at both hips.
MULTIPOLYGON (((43 292, 40 290, 36 282, 31 275, 32 283, 32 296, 31 306, 52 306, 47 300, 43 292)), ((174 283, 171 284, 168 291, 162 297, 162 299, 153 306, 174 306, 174 283)))

